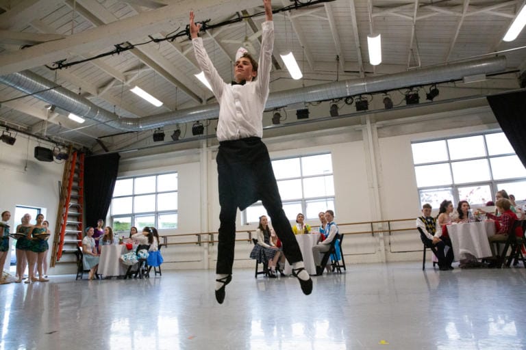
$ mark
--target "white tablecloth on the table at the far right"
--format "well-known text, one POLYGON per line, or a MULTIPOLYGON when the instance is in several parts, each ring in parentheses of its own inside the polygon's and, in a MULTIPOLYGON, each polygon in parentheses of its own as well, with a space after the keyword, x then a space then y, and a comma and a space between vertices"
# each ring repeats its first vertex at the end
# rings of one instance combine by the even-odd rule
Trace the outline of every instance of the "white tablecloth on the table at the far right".
POLYGON ((465 254, 471 254, 477 258, 492 255, 488 237, 495 234, 493 221, 451 224, 447 226, 447 232, 451 238, 455 260, 460 260, 465 254))

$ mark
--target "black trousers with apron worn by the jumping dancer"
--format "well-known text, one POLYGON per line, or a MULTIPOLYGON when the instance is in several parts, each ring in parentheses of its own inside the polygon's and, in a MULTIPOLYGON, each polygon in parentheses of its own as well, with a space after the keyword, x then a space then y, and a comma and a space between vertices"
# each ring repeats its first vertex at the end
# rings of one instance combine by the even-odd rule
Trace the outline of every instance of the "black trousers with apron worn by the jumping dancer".
POLYGON ((216 273, 232 273, 237 210, 245 210, 258 200, 262 201, 271 217, 288 262, 303 261, 298 242, 283 211, 268 150, 261 139, 248 137, 220 142, 216 161, 221 205, 216 273))

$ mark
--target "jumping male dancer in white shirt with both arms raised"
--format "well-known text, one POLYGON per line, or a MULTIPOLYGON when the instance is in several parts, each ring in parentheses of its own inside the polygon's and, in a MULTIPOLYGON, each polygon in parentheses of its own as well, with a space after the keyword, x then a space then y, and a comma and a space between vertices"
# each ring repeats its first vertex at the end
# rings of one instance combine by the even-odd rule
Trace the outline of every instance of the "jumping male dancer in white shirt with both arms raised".
POLYGON ((236 54, 235 82, 232 84, 225 83, 214 68, 203 46, 203 40, 198 37, 201 25, 194 23, 194 13, 190 12, 190 37, 195 57, 219 103, 219 148, 216 157, 221 205, 216 266, 216 299, 219 304, 223 303, 225 286, 232 279, 238 207, 243 211, 258 200, 262 201, 272 219, 284 254, 292 265, 292 274, 298 278, 301 290, 305 295, 312 292, 312 280, 304 268, 299 245, 283 211, 268 150, 261 141, 274 46, 271 0, 263 0, 263 4, 266 22, 262 24, 259 62, 255 62, 245 49, 240 48, 236 54), (259 75, 258 68, 261 73, 259 75))

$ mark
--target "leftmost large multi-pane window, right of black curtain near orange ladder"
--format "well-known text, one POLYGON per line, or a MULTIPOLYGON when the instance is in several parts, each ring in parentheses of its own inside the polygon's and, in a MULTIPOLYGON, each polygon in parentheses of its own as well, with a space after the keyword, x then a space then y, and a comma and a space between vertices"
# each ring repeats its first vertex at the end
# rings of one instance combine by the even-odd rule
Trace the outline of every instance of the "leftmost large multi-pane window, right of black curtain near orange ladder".
POLYGON ((132 226, 177 228, 177 173, 116 180, 112 198, 113 228, 127 234, 132 226))

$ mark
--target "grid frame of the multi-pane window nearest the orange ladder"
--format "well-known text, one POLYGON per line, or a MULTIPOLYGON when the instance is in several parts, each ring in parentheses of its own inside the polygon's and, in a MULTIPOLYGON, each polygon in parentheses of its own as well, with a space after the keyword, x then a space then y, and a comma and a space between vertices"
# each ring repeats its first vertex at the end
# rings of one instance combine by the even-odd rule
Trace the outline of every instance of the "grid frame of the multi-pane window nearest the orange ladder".
MULTIPOLYGON (((158 173, 158 174, 146 174, 146 175, 138 175, 138 176, 123 176, 121 178, 117 178, 117 181, 118 180, 127 180, 127 179, 132 179, 133 180, 132 181, 132 192, 131 193, 127 193, 127 194, 122 195, 122 196, 112 196, 112 203, 110 204, 110 220, 112 222, 112 226, 113 226, 114 221, 116 221, 116 219, 127 218, 127 217, 131 217, 132 226, 135 226, 136 217, 147 217, 147 216, 155 217, 155 220, 154 220, 155 224, 154 224, 154 226, 155 226, 155 228, 158 229, 158 231, 161 231, 161 230, 173 230, 173 229, 177 228, 177 226, 179 226, 179 173, 178 172, 162 172, 162 173, 158 173), (162 175, 166 175, 166 174, 175 174, 177 176, 176 189, 168 190, 168 191, 158 191, 158 186, 159 186, 158 177, 162 176, 162 175), (136 178, 146 178, 146 177, 151 177, 151 176, 155 176, 155 191, 147 192, 147 193, 135 193, 136 178), (175 210, 158 211, 158 195, 159 194, 163 194, 163 193, 177 193, 177 209, 175 209, 175 210), (148 196, 148 195, 154 195, 155 196, 155 210, 136 213, 135 212, 135 200, 134 199, 136 197, 138 197, 138 196, 148 196), (120 214, 114 215, 113 214, 113 200, 115 198, 127 198, 127 197, 131 197, 132 198, 132 212, 131 213, 120 213, 120 214), (175 215, 177 215, 177 222, 175 223, 175 228, 159 228, 158 227, 159 215, 166 215, 166 214, 175 214, 175 215)), ((141 229, 142 228, 137 228, 137 230, 139 230, 139 231, 141 229)), ((123 231, 119 230, 119 231, 116 231, 116 232, 122 233, 123 231)))

